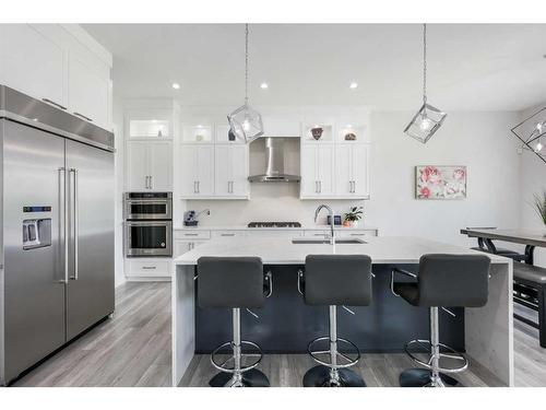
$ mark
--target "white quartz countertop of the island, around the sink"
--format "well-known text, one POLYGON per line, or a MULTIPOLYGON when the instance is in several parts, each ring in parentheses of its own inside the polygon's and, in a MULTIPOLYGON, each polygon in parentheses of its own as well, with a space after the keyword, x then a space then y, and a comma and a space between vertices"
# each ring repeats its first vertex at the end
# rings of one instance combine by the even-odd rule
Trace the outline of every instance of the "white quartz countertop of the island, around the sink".
MULTIPOLYGON (((337 238, 342 238, 340 235, 337 238)), ((218 237, 203 243, 174 260, 175 265, 197 265, 202 256, 257 256, 265 265, 302 265, 307 255, 369 255, 373 263, 418 263, 425 254, 485 255, 461 246, 418 237, 378 236, 364 244, 293 244, 287 237, 218 237)), ((492 263, 511 259, 488 255, 492 263)))

